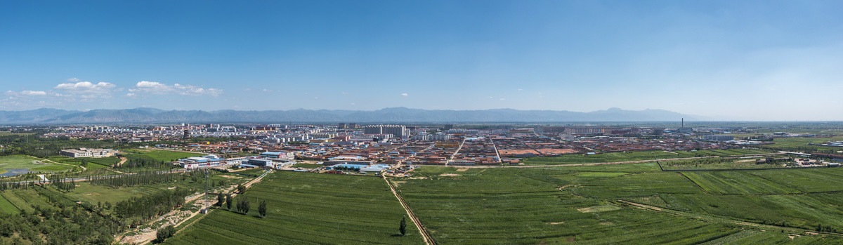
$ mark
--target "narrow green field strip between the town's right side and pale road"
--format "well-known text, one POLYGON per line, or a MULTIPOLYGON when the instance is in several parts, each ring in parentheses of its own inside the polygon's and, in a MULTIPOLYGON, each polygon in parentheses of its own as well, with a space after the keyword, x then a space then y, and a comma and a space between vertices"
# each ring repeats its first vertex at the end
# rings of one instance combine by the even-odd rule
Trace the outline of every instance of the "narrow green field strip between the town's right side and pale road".
POLYGON ((737 156, 771 153, 766 150, 756 149, 730 149, 730 150, 703 150, 689 152, 608 152, 602 154, 583 155, 568 154, 560 157, 529 157, 524 159, 526 165, 554 165, 554 164, 577 164, 594 162, 629 162, 653 159, 685 158, 685 157, 713 157, 713 156, 737 156))

